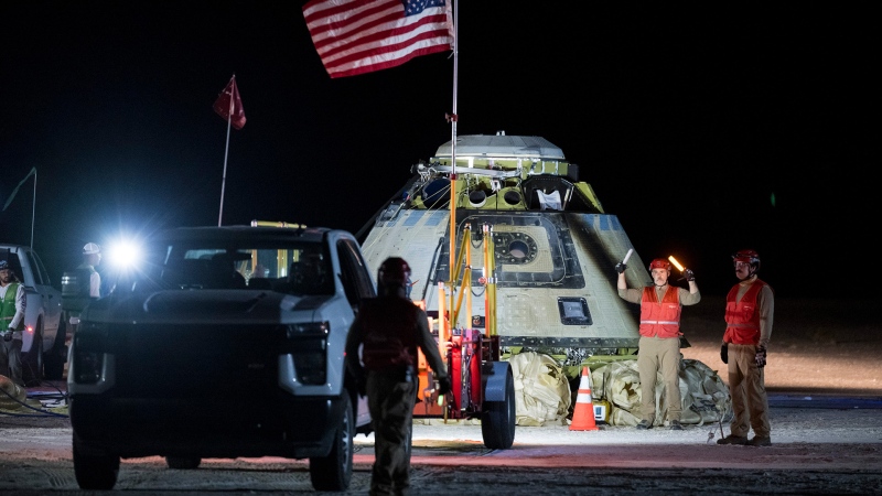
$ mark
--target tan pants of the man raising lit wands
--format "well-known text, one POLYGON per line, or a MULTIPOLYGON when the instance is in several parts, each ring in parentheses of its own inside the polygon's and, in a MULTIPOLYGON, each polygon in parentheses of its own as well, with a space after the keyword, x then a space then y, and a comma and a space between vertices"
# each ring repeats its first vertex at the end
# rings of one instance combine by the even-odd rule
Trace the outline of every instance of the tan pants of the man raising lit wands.
POLYGON ((655 423, 656 374, 662 373, 665 385, 666 420, 680 420, 682 399, 680 398, 680 338, 641 336, 637 353, 637 369, 641 374, 641 416, 642 420, 655 423))

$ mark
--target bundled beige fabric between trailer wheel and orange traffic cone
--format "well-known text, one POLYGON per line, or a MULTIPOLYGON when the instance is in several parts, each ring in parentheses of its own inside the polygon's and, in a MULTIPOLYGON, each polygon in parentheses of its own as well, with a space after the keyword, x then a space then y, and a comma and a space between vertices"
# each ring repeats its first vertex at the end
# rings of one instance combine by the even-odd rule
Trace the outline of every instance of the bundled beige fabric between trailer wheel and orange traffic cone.
POLYGON ((508 359, 515 378, 517 425, 563 424, 572 398, 563 369, 552 357, 535 352, 508 359))

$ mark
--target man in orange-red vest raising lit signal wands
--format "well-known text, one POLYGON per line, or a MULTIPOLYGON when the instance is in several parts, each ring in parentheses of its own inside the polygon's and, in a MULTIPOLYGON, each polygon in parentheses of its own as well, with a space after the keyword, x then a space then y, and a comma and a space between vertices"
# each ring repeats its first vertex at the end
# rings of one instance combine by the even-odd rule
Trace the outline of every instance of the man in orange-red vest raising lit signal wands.
POLYGON ((696 285, 696 276, 690 269, 682 271, 689 290, 668 284, 670 262, 656 258, 649 263, 653 285, 628 289, 625 281, 627 266, 617 263, 619 296, 641 305, 641 342, 637 353, 637 369, 641 375, 641 421, 637 429, 652 429, 655 423, 656 374, 662 373, 667 403, 667 424, 670 430, 681 431, 680 414, 680 311, 682 305, 701 301, 696 285))

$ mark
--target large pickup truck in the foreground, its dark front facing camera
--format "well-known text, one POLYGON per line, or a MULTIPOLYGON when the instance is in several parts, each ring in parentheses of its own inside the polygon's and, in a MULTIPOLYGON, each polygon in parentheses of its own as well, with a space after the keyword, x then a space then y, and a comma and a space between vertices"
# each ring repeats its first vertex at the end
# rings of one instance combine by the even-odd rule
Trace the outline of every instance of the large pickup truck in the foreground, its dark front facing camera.
POLYGON ((157 233, 133 280, 84 306, 67 370, 80 488, 161 455, 309 459, 318 490, 346 490, 370 414, 344 345, 374 280, 352 234, 286 226, 157 233))

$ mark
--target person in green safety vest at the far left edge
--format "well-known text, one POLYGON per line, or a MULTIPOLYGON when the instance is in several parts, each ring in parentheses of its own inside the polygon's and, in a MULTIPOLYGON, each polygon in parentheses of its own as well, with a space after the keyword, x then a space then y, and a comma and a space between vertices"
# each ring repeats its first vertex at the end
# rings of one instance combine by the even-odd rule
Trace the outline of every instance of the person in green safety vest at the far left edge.
POLYGON ((0 260, 0 375, 22 387, 21 332, 25 306, 24 285, 18 281, 9 262, 0 260))

